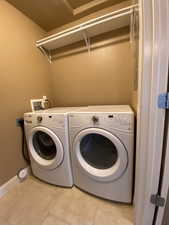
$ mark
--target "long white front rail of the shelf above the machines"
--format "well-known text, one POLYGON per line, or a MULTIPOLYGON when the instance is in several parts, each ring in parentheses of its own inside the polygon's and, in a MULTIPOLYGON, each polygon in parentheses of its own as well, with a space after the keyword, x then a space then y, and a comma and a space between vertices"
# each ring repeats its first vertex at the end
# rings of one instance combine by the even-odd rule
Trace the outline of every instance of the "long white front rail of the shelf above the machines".
POLYGON ((129 6, 129 7, 123 8, 123 9, 120 9, 120 10, 113 11, 111 13, 108 13, 106 15, 100 16, 98 18, 89 20, 89 21, 87 21, 85 23, 76 25, 76 26, 74 26, 72 28, 66 29, 66 30, 61 31, 61 32, 59 32, 57 34, 51 35, 51 36, 49 36, 47 38, 44 38, 44 39, 41 39, 41 40, 37 41, 36 42, 36 46, 40 47, 40 46, 42 46, 44 44, 53 42, 55 40, 58 40, 60 38, 66 37, 66 36, 69 36, 69 35, 74 34, 76 32, 83 31, 83 30, 86 30, 86 29, 88 29, 90 27, 99 25, 101 23, 105 23, 107 21, 110 21, 110 20, 113 20, 113 19, 125 16, 125 15, 128 15, 128 14, 131 14, 133 12, 133 9, 135 9, 137 7, 138 7, 138 4, 135 4, 135 5, 132 5, 132 6, 129 6))

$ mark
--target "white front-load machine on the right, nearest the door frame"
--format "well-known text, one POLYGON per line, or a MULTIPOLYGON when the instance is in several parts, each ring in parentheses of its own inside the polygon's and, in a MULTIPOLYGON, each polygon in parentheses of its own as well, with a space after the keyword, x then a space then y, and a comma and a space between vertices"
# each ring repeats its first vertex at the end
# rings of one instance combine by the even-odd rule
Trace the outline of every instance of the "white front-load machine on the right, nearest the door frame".
POLYGON ((132 202, 134 113, 94 106, 69 114, 74 184, 96 196, 132 202))

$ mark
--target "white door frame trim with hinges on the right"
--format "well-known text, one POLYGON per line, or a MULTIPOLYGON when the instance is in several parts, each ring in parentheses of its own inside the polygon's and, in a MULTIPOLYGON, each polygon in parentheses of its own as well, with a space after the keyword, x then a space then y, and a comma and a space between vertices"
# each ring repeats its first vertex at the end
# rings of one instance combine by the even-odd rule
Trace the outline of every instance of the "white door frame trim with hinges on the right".
POLYGON ((135 224, 152 225, 158 192, 165 110, 158 95, 167 92, 167 0, 140 0, 139 96, 136 153, 135 224))

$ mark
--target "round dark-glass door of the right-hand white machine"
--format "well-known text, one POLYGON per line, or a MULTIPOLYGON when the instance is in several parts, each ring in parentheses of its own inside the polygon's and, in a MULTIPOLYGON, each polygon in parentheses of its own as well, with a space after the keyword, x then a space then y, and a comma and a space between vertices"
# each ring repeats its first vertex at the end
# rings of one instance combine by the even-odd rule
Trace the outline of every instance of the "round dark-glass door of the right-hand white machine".
POLYGON ((119 179, 128 164, 128 154, 122 142, 110 132, 88 128, 75 137, 75 160, 81 170, 93 179, 113 181, 119 179))

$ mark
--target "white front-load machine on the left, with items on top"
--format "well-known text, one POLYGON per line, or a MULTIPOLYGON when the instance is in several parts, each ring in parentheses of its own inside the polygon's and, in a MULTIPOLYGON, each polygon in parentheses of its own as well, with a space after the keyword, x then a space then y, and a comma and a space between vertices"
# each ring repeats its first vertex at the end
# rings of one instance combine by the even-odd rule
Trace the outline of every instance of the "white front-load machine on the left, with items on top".
POLYGON ((24 114, 32 172, 50 184, 73 186, 67 113, 75 109, 53 108, 24 114))

